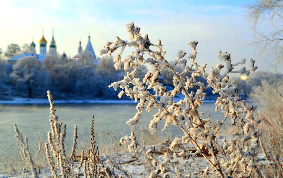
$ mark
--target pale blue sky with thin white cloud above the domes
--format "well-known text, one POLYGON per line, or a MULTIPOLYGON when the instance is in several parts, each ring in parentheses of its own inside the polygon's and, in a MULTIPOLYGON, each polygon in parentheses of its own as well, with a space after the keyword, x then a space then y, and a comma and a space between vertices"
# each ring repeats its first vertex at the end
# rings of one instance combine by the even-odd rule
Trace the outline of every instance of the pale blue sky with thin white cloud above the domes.
MULTIPOLYGON (((81 37, 88 32, 95 53, 115 36, 128 40, 125 24, 131 21, 149 34, 152 42, 161 39, 168 60, 179 49, 190 53, 187 42, 198 40, 199 64, 215 66, 218 53, 228 51, 234 61, 256 58, 253 31, 243 6, 254 1, 31 1, 2 2, 0 10, 0 47, 30 43, 38 50, 42 29, 48 43, 54 26, 57 51, 75 55, 81 37)), ((126 51, 130 52, 130 50, 126 51)), ((260 62, 262 70, 267 62, 260 62)), ((259 62, 258 62, 259 64, 259 62)))

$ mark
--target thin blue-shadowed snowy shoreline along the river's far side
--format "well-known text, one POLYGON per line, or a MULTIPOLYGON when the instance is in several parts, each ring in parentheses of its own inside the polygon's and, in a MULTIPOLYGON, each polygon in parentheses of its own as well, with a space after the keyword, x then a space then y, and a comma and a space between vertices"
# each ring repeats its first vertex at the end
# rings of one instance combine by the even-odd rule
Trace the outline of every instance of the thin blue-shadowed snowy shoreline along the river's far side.
MULTIPOLYGON (((174 98, 177 102, 180 98, 174 98)), ((134 104, 134 100, 114 99, 58 99, 54 103, 76 103, 76 104, 134 104)), ((215 103, 214 100, 203 100, 203 103, 215 103)), ((13 100, 0 100, 0 104, 22 105, 22 104, 49 104, 48 99, 15 97, 13 100)))

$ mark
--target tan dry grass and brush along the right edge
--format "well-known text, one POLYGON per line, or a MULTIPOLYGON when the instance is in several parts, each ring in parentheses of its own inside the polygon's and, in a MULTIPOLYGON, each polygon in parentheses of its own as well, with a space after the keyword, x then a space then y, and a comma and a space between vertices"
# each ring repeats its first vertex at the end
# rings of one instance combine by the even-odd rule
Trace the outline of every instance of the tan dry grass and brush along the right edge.
POLYGON ((256 113, 261 118, 260 129, 263 135, 259 140, 259 153, 263 158, 257 159, 259 177, 283 177, 283 84, 262 83, 252 95, 260 109, 256 113))

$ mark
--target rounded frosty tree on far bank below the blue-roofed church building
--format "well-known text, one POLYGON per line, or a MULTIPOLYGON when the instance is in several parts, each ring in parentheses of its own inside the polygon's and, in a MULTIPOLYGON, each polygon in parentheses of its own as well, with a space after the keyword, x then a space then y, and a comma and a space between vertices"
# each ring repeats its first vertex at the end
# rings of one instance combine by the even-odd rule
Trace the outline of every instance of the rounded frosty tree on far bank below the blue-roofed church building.
MULTIPOLYGON (((24 57, 19 59, 13 65, 13 71, 10 75, 16 88, 26 90, 28 97, 32 97, 35 90, 42 91, 47 82, 47 70, 42 61, 36 57, 24 57)), ((36 91, 38 93, 39 91, 36 91)))

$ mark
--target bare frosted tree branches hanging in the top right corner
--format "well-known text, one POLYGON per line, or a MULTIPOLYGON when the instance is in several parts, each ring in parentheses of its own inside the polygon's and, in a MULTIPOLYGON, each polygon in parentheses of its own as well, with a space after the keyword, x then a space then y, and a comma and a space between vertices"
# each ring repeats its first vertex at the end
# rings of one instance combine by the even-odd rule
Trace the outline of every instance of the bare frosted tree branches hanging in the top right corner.
POLYGON ((275 65, 283 64, 283 1, 260 0, 247 6, 247 17, 256 32, 254 44, 263 59, 272 56, 275 65), (268 25, 269 32, 262 32, 261 25, 268 25))

